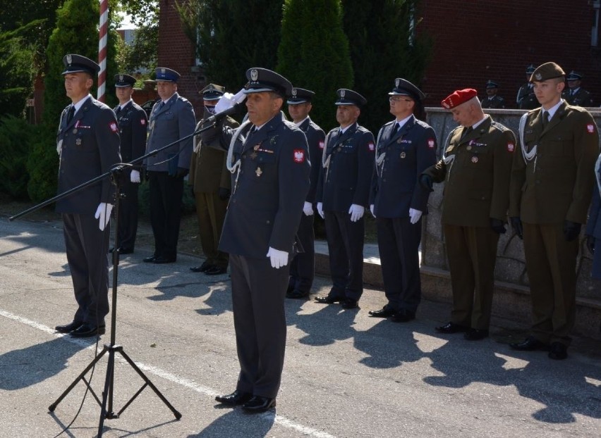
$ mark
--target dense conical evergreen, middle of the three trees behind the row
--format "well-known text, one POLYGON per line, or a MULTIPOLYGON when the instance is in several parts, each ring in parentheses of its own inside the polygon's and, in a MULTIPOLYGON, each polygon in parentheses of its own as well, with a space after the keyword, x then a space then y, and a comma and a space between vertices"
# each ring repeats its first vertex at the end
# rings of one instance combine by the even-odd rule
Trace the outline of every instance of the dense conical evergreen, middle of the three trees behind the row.
POLYGON ((340 0, 285 1, 277 70, 315 92, 311 118, 318 125, 326 132, 336 125, 336 90, 353 87, 340 0))

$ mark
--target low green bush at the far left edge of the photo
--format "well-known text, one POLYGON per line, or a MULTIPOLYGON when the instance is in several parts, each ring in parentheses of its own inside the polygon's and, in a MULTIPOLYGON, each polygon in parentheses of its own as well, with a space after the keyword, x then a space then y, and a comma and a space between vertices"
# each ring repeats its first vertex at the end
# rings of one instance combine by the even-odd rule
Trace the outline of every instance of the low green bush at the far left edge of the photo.
POLYGON ((25 120, 12 115, 0 118, 0 193, 12 199, 28 197, 26 163, 36 131, 25 120))

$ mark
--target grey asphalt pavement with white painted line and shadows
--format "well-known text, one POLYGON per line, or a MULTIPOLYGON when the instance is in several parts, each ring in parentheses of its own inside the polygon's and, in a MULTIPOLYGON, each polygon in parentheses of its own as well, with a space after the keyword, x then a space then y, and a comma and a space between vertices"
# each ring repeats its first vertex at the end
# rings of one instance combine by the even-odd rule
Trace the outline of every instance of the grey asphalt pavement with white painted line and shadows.
MULTIPOLYGON (((104 437, 599 437, 601 344, 574 339, 566 361, 506 345, 524 327, 494 320, 492 336, 468 342, 439 335, 446 304, 423 301, 418 318, 370 318, 385 304, 365 289, 360 309, 286 301, 288 339, 274 411, 221 408, 236 386, 238 361, 228 275, 207 277, 173 264, 142 263, 136 249, 119 263, 116 344, 181 413, 180 420, 116 353, 113 406, 104 437)), ((327 293, 318 277, 313 292, 327 293)), ((60 222, 0 219, 0 438, 95 437, 100 407, 79 382, 49 406, 102 351, 57 334, 75 303, 60 222)), ((111 321, 107 320, 110 325, 111 321)), ((108 354, 91 377, 102 399, 108 354)))

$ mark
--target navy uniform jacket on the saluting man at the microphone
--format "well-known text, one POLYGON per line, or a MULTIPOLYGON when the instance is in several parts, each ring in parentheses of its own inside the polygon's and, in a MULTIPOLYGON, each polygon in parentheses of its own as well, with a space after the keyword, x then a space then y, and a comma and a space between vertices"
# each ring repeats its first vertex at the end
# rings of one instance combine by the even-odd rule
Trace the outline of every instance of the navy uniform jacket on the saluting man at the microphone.
POLYGON ((234 132, 242 130, 231 146, 241 167, 232 175, 219 250, 253 258, 265 258, 269 247, 290 254, 309 191, 307 139, 281 113, 248 136, 252 126, 234 132))

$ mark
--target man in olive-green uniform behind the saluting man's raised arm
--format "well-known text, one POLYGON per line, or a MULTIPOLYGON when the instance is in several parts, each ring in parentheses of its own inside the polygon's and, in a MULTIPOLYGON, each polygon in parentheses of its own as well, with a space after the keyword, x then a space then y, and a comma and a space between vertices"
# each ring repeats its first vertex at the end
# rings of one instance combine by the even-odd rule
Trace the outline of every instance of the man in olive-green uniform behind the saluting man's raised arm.
MULTIPOLYGON (((215 84, 202 89, 205 112, 196 130, 214 115, 215 104, 224 95, 224 91, 224 87, 215 84)), ((221 146, 221 132, 224 126, 236 128, 238 125, 233 118, 224 117, 213 127, 194 137, 188 184, 192 187, 196 201, 200 245, 206 258, 202 265, 190 268, 195 273, 220 275, 227 271, 228 254, 217 249, 231 191, 231 174, 226 167, 227 152, 221 146)))

